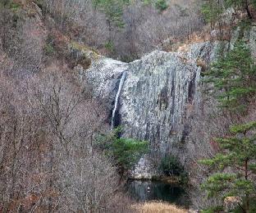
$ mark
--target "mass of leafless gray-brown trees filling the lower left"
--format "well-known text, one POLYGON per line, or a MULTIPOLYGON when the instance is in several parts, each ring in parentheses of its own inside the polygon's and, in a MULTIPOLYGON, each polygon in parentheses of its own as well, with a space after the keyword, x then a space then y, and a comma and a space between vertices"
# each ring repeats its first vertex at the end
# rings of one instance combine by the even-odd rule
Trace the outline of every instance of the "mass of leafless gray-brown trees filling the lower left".
POLYGON ((2 74, 3 212, 97 212, 117 191, 115 166, 92 147, 104 126, 103 108, 60 68, 50 67, 19 84, 2 74))

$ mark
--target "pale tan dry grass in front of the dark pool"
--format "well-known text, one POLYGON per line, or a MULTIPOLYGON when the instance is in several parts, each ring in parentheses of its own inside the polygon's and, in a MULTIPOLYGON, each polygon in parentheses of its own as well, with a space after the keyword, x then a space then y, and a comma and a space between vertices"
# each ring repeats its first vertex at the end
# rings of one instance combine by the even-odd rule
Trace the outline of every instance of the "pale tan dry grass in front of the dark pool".
POLYGON ((138 212, 142 213, 186 213, 185 209, 181 209, 167 202, 144 202, 132 206, 138 212))

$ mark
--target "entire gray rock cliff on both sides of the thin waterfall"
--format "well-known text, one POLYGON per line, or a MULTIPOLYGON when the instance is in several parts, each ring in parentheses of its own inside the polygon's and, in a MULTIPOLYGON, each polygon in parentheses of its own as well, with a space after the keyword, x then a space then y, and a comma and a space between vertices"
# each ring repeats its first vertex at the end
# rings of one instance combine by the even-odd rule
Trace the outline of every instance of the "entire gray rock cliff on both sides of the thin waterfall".
MULTIPOLYGON (((185 52, 154 51, 128 64, 101 58, 84 76, 94 88, 94 97, 107 99, 111 111, 121 74, 126 71, 117 111, 121 120, 115 125, 124 127, 124 137, 149 141, 153 156, 175 154, 190 133, 185 122, 190 110, 199 106, 199 61, 207 65, 216 48, 217 43, 196 43, 185 52)), ((141 159, 132 175, 149 178, 149 165, 141 159)))

